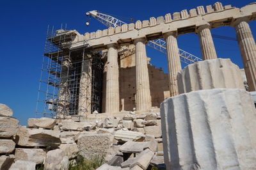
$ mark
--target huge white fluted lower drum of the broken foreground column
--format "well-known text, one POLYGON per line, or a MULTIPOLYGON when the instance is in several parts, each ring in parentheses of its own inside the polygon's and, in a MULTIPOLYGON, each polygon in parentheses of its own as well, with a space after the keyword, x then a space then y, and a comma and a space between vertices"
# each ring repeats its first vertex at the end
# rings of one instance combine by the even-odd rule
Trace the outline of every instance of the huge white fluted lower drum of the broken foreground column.
POLYGON ((168 98, 161 104, 161 118, 166 167, 256 167, 256 110, 244 89, 207 89, 168 98))

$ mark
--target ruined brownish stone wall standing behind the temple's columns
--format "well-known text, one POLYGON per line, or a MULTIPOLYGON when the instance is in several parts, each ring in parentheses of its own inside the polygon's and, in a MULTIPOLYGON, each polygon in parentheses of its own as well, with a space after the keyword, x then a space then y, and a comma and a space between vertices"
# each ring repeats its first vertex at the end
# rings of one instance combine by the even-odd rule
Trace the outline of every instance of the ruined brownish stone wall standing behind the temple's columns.
MULTIPOLYGON (((134 45, 128 49, 120 49, 118 55, 119 64, 119 91, 120 111, 132 111, 136 107, 136 63, 134 45), (122 52, 124 51, 124 52, 122 52)), ((150 58, 148 58, 150 61, 150 58)), ((148 63, 148 75, 150 81, 150 95, 153 108, 159 108, 163 100, 170 97, 168 87, 168 74, 148 63)), ((106 95, 106 68, 104 69, 102 112, 104 112, 104 101, 106 95), (104 88, 105 87, 105 88, 104 88)))

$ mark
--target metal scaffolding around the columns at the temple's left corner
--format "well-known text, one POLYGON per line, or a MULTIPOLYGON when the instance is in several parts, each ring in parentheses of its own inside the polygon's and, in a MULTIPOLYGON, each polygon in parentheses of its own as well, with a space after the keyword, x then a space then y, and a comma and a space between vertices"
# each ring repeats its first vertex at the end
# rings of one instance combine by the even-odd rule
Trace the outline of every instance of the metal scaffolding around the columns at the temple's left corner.
POLYGON ((102 54, 84 42, 70 48, 75 30, 47 28, 36 116, 67 118, 101 112, 102 54))

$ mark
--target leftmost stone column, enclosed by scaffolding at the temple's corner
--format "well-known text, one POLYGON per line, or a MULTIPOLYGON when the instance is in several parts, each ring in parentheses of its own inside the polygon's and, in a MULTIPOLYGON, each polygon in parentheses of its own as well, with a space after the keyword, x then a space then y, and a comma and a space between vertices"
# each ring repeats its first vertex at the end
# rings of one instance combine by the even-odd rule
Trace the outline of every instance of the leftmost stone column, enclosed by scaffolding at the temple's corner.
POLYGON ((63 59, 60 73, 60 87, 58 93, 58 104, 56 116, 65 116, 69 114, 70 105, 70 87, 68 79, 70 79, 70 68, 72 63, 70 59, 63 59))

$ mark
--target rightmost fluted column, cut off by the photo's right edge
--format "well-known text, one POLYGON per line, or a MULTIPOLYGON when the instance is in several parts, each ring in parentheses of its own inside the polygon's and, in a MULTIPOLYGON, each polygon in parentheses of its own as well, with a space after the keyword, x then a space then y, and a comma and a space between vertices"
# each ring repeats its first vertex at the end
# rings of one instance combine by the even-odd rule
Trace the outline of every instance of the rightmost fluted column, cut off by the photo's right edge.
POLYGON ((237 19, 232 25, 236 30, 249 91, 256 91, 256 45, 248 19, 237 19))

